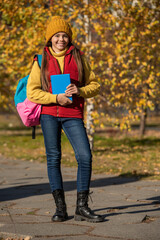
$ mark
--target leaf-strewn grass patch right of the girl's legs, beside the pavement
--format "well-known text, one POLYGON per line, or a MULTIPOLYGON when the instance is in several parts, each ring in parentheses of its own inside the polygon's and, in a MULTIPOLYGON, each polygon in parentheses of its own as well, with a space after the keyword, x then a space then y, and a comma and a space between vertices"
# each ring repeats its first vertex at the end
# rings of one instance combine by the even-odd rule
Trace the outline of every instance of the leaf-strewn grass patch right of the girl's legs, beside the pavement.
POLYGON ((95 137, 97 172, 160 179, 160 139, 95 137), (101 170, 100 170, 101 169, 101 170))

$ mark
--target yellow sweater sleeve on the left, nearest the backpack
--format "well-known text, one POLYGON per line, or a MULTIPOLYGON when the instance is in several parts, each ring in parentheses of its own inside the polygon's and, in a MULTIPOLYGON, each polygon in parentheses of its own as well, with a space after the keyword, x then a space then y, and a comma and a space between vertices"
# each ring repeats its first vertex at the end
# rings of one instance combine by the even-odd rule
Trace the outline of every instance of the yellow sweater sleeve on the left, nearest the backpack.
POLYGON ((34 103, 50 104, 56 103, 56 94, 42 90, 40 80, 40 68, 38 62, 34 61, 27 82, 27 98, 34 103))

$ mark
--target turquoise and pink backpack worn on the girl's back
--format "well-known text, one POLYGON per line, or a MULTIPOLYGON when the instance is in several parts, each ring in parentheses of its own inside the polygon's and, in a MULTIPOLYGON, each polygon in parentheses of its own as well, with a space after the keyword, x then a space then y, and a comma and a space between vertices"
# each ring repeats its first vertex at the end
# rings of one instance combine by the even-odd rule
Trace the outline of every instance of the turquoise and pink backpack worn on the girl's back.
MULTIPOLYGON (((41 67, 42 55, 36 55, 38 58, 39 67, 41 67)), ((27 99, 27 82, 28 77, 19 80, 16 93, 14 96, 14 102, 18 114, 26 127, 32 128, 32 138, 35 138, 35 126, 40 124, 41 104, 33 103, 27 99)))

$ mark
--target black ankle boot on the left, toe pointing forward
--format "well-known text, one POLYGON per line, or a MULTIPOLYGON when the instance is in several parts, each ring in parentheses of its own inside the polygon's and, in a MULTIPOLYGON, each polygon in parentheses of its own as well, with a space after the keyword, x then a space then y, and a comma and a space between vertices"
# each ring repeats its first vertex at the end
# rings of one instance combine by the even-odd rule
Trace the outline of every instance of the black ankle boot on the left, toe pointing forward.
POLYGON ((52 217, 53 222, 63 222, 68 219, 67 208, 65 203, 64 191, 63 189, 57 189, 52 192, 55 204, 56 212, 52 217))

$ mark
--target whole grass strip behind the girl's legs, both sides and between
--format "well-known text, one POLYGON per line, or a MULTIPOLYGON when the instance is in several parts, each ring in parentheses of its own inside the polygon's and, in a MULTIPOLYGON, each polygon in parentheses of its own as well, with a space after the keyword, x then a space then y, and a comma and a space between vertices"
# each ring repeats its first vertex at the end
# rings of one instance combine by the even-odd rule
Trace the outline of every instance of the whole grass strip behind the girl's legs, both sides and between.
MULTIPOLYGON (((0 152, 5 157, 45 162, 43 136, 35 140, 27 134, 1 135, 0 152)), ((73 149, 62 134, 62 164, 77 166, 73 149)), ((160 179, 160 139, 156 137, 109 138, 95 135, 93 150, 93 172, 160 179)))

